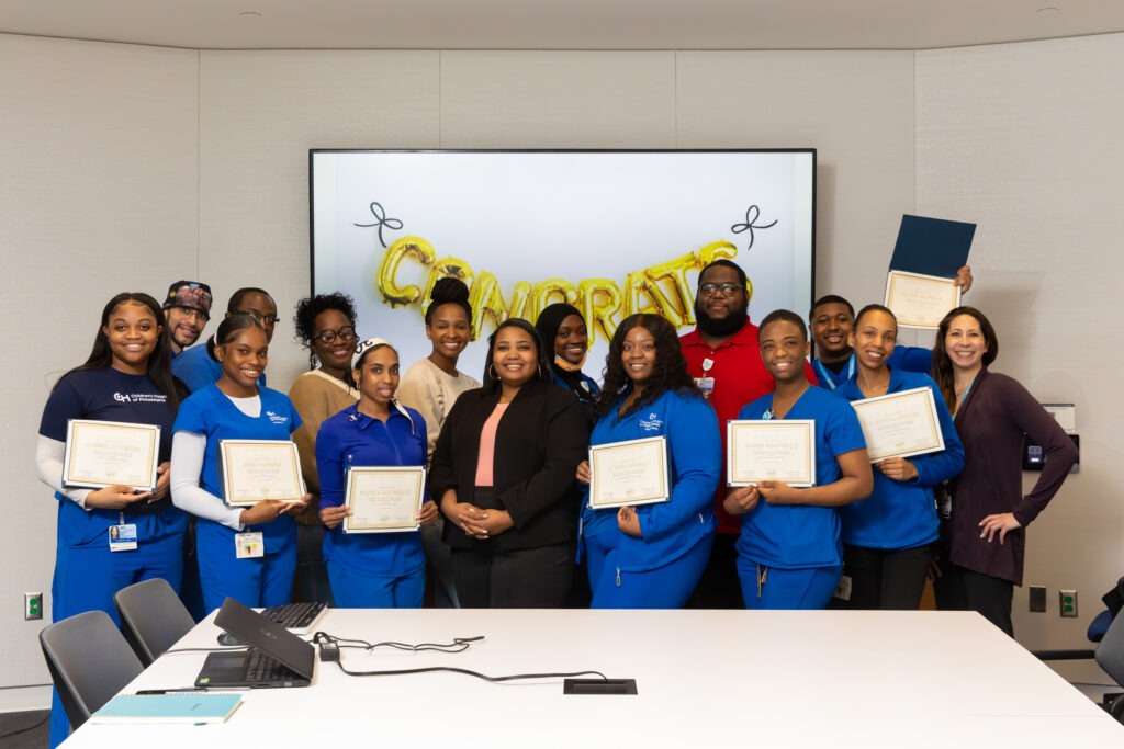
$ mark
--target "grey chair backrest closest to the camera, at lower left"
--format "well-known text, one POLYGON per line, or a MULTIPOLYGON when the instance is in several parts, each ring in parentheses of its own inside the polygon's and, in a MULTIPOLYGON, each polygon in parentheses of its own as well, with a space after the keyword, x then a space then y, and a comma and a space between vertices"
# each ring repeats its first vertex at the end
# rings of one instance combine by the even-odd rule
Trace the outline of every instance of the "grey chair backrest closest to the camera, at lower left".
POLYGON ((144 670, 105 611, 87 611, 47 625, 39 632, 39 645, 75 729, 144 670))

